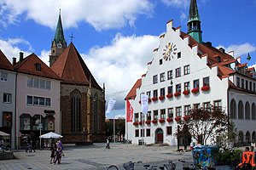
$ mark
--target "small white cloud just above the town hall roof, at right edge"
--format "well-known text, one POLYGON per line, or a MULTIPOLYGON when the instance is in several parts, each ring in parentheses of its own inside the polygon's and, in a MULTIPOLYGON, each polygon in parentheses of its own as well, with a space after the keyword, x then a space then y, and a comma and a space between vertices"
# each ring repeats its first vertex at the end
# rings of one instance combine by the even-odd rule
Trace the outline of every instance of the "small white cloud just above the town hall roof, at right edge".
POLYGON ((217 48, 224 48, 226 52, 234 51, 235 58, 239 57, 242 54, 250 53, 254 50, 256 50, 256 46, 254 44, 250 43, 244 43, 240 45, 230 45, 229 47, 225 48, 223 45, 218 45, 217 48))

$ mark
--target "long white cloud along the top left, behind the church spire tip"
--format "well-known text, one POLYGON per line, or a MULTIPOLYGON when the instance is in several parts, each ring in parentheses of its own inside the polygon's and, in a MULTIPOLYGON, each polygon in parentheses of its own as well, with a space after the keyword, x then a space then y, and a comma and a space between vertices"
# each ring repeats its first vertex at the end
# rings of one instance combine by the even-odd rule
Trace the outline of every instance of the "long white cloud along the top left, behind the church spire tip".
POLYGON ((55 29, 61 7, 62 24, 66 28, 88 22, 97 31, 134 26, 139 14, 150 15, 154 5, 149 0, 2 0, 0 16, 3 26, 18 23, 20 14, 26 19, 55 29))

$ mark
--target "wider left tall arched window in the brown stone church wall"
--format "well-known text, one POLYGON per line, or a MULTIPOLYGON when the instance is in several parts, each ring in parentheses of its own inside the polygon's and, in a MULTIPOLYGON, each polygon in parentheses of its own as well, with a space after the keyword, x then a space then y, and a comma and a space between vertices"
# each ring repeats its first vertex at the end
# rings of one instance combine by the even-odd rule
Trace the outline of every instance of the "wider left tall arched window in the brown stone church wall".
POLYGON ((81 94, 74 90, 71 94, 72 131, 80 132, 81 94))

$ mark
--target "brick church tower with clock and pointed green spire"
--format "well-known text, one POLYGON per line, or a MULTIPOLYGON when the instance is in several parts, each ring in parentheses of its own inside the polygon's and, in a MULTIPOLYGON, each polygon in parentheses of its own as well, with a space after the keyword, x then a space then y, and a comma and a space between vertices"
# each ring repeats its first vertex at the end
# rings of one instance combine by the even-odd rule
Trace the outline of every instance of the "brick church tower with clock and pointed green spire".
POLYGON ((61 24, 61 9, 59 14, 59 20, 56 27, 55 38, 51 42, 51 49, 49 55, 49 67, 54 64, 55 60, 63 53, 64 49, 67 48, 67 42, 64 38, 64 33, 61 24))

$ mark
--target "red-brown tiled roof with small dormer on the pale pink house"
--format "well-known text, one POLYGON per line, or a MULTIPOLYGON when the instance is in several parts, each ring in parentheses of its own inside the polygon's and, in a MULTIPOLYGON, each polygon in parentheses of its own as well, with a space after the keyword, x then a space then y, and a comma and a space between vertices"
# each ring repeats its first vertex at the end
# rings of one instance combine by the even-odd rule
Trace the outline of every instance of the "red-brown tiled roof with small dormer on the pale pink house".
POLYGON ((33 53, 16 63, 14 68, 21 73, 61 80, 61 77, 58 77, 54 71, 50 70, 48 65, 45 65, 44 62, 33 53), (41 71, 36 70, 36 64, 41 65, 41 71))

